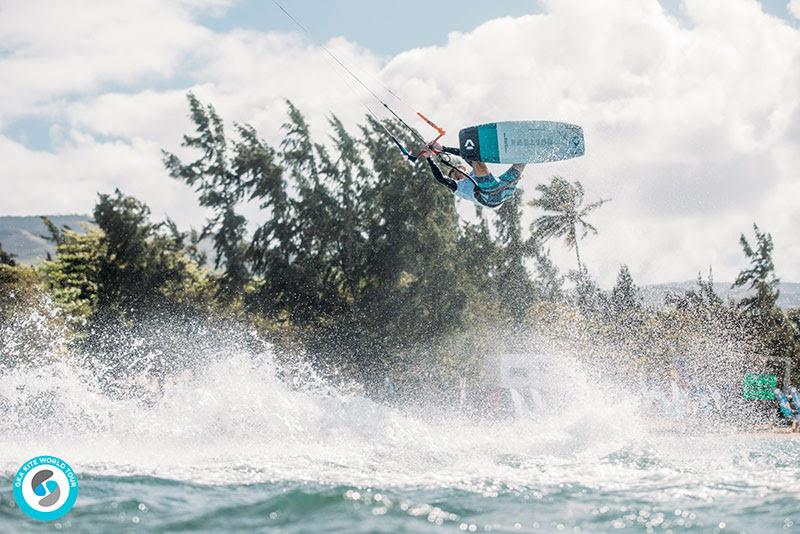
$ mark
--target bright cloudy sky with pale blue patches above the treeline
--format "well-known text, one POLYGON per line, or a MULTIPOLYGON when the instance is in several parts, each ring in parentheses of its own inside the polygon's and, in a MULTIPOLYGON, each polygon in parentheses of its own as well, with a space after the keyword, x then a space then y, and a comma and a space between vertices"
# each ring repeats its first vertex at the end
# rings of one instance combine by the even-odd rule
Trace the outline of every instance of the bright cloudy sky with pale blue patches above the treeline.
POLYGON ((481 122, 580 124, 586 156, 529 166, 523 186, 559 175, 611 199, 581 242, 604 286, 621 263, 641 284, 709 267, 731 281, 754 222, 800 281, 800 0, 281 3, 310 35, 269 1, 0 0, 0 215, 89 213, 119 188, 198 226, 161 162, 188 155, 186 93, 271 143, 288 98, 324 139, 331 113, 355 128, 370 98, 324 46, 451 144, 481 122))

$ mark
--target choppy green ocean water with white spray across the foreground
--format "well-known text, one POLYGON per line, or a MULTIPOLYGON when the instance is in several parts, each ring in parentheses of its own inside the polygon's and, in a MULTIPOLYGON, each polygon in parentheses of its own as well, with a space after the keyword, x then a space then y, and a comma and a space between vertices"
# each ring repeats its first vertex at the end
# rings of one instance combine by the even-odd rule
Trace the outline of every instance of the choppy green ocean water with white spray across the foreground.
POLYGON ((109 396, 64 362, 7 369, 0 532, 800 531, 795 436, 664 424, 576 368, 568 402, 513 422, 279 379, 269 353, 223 352, 158 395, 109 396), (14 505, 38 454, 79 476, 58 522, 14 505))

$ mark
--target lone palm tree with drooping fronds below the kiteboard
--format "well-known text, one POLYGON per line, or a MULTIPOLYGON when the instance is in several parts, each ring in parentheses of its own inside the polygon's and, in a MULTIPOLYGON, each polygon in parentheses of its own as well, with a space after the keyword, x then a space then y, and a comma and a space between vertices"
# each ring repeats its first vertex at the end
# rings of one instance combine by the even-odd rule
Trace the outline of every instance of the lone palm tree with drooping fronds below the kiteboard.
POLYGON ((549 184, 537 185, 536 190, 541 196, 533 199, 530 205, 550 213, 537 217, 531 225, 531 232, 541 242, 551 237, 563 237, 568 248, 575 247, 578 272, 581 272, 583 266, 578 240, 590 232, 597 234, 597 229, 586 222, 586 217, 609 199, 601 199, 584 206, 583 185, 578 181, 570 183, 560 176, 553 176, 549 184))

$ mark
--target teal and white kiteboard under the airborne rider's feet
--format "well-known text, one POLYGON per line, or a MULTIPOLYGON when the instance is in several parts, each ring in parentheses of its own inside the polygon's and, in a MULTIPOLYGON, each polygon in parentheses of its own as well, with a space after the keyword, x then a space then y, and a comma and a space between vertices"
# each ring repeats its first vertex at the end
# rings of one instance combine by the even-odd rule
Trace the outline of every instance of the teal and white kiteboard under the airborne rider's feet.
POLYGON ((461 156, 485 163, 543 163, 583 156, 580 126, 552 121, 506 121, 458 132, 461 156))

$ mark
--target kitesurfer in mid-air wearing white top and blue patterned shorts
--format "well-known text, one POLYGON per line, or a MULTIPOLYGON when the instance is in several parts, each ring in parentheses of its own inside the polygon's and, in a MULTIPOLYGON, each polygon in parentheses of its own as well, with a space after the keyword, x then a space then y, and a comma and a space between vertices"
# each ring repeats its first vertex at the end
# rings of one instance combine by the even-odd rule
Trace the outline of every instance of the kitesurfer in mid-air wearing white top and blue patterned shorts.
POLYGON ((506 172, 495 177, 481 161, 467 162, 457 155, 457 148, 440 145, 426 147, 420 157, 428 160, 437 182, 444 185, 457 197, 479 206, 496 208, 511 198, 517 190, 525 165, 515 163, 506 172), (434 162, 434 154, 439 165, 434 162))

